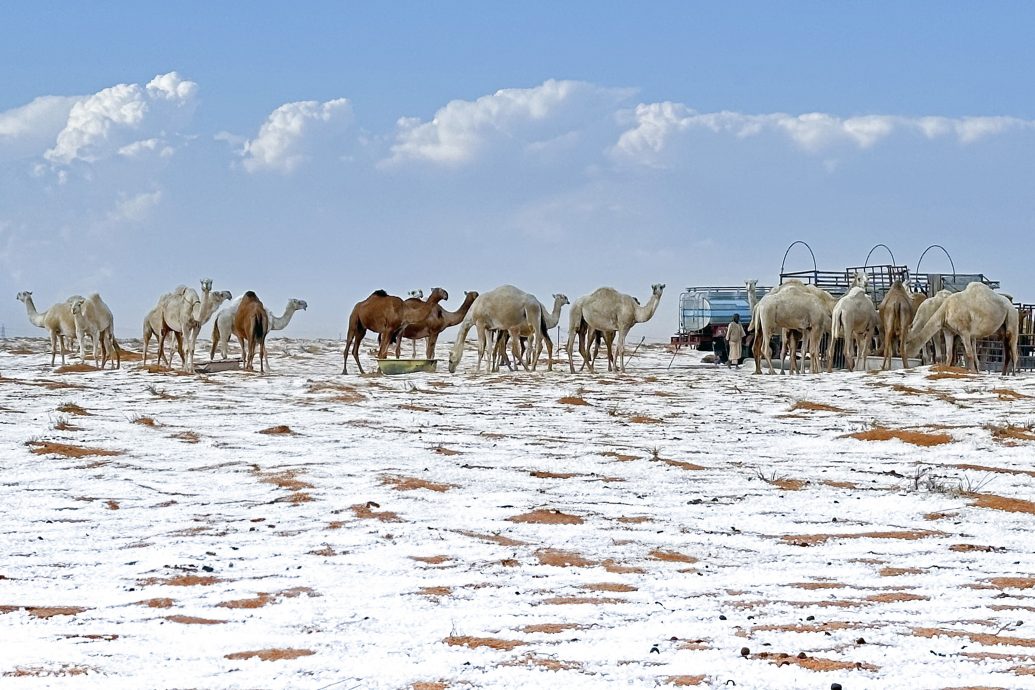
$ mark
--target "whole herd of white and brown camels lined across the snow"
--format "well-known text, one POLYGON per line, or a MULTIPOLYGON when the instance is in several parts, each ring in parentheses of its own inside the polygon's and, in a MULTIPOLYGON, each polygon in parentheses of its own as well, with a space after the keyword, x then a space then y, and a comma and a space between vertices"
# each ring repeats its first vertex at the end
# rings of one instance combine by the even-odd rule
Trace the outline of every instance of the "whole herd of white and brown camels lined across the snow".
MULTIPOLYGON (((858 362, 865 367, 875 336, 883 336, 884 368, 890 366, 895 351, 907 366, 907 358, 915 357, 931 340, 937 361, 952 359, 955 338, 959 337, 967 364, 974 370, 978 367, 978 338, 1001 337, 1003 373, 1016 371, 1017 310, 1007 297, 980 282, 972 282, 958 293, 943 290, 926 298, 910 293, 899 280, 892 284, 879 306, 875 306, 866 294, 866 276, 861 272, 855 275, 848 294, 840 299, 816 286, 788 280, 756 301, 757 280, 748 280, 746 284, 751 309, 748 331, 756 334, 756 373, 762 372, 763 358, 769 365, 769 372, 774 372, 770 348, 763 343, 769 343, 776 333, 782 336, 795 372, 798 342, 807 351, 810 371, 822 369, 820 351, 824 336, 828 336, 825 353, 828 371, 832 367, 833 344, 837 338, 844 338, 846 365, 854 370, 858 362)), ((609 370, 624 371, 626 336, 635 324, 645 323, 654 316, 663 291, 662 283, 651 286, 651 295, 645 304, 613 288, 599 288, 570 303, 567 297, 558 294, 554 295, 553 308, 546 309, 534 295, 513 286, 501 286, 483 294, 467 292, 460 308, 448 311, 441 305, 449 299, 442 288, 432 290, 426 299, 420 291, 404 299, 378 290, 358 302, 349 316, 342 373, 348 372, 350 353, 360 373, 363 372, 359 348, 367 332, 379 336, 379 359, 388 356, 392 343, 395 344, 395 357, 400 357, 404 339, 413 340, 416 352, 416 340, 423 338, 427 341, 426 354, 431 360, 435 358, 439 335, 453 326, 460 326, 460 332, 449 352, 450 373, 460 364, 472 328, 477 331, 478 342, 475 371, 481 370, 482 360, 490 371, 498 370, 501 364, 512 368, 506 354, 508 346, 514 362, 532 370, 545 347, 548 368, 553 369, 553 341, 549 331, 560 322, 561 309, 567 304, 571 307, 566 348, 571 372, 575 370, 572 353, 576 337, 583 368, 594 370, 602 341, 607 346, 609 370)), ((64 364, 65 346, 72 339, 78 341, 80 358, 86 361, 87 338, 92 342, 92 357, 97 366, 102 368, 109 361, 113 367, 120 365, 121 350, 114 335, 114 318, 100 295, 73 295, 42 312, 36 309, 32 293, 19 293, 18 299, 25 303, 29 321, 49 332, 52 366, 59 352, 64 364)), ((198 335, 202 326, 214 317, 210 357, 214 358, 218 351, 227 359, 230 338, 236 336, 245 367, 254 368, 258 353, 259 368, 267 371, 267 334, 286 328, 292 316, 306 307, 304 300, 290 299, 284 313, 277 317, 252 291, 233 299, 227 291, 214 292, 211 279, 201 281, 200 295, 193 288, 180 286, 164 294, 144 319, 144 364, 152 336, 157 339, 158 363, 172 364, 172 354, 166 352, 167 337, 172 334, 182 368, 193 370, 198 335)))

